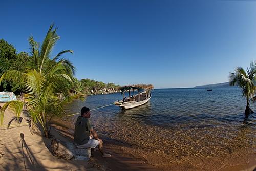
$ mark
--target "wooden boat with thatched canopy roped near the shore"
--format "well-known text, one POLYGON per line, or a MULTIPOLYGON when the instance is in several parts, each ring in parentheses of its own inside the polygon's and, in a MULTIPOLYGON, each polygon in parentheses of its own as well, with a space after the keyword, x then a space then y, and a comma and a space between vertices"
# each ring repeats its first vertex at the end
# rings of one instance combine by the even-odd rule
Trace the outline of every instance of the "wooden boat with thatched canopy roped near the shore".
POLYGON ((145 85, 145 84, 136 84, 132 86, 123 86, 120 87, 120 90, 123 94, 123 99, 115 101, 115 105, 124 109, 131 109, 137 106, 143 105, 148 102, 151 98, 151 89, 153 89, 153 85, 145 85), (133 91, 133 96, 131 96, 131 92, 133 91), (134 94, 134 91, 138 90, 138 94, 134 94), (125 97, 124 92, 129 92, 129 97, 125 97))

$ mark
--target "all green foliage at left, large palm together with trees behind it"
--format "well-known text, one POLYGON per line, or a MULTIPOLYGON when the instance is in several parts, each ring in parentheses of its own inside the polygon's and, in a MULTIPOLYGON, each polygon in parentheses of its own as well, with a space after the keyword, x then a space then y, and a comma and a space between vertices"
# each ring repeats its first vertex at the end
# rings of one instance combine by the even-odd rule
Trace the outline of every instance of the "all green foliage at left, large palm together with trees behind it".
POLYGON ((30 37, 30 55, 26 52, 16 54, 12 45, 0 40, 0 85, 5 90, 24 92, 24 101, 10 101, 2 107, 0 123, 3 124, 5 110, 20 117, 25 106, 31 125, 39 123, 45 137, 49 137, 51 120, 65 116, 63 106, 66 103, 84 99, 80 92, 115 88, 113 83, 74 78, 75 67, 62 57, 65 53, 73 53, 72 50, 63 50, 51 59, 52 50, 60 38, 56 31, 51 25, 41 46, 30 37), (71 96, 70 91, 75 95, 71 96))

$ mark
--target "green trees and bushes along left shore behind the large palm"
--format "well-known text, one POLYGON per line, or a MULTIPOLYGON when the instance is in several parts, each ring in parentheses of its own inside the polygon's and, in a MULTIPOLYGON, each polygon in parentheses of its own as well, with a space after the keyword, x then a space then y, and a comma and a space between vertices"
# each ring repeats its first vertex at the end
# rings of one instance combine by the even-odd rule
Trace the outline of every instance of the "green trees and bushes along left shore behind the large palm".
MULTIPOLYGON (((27 73, 28 71, 33 69, 39 71, 38 68, 40 67, 38 67, 38 60, 40 59, 36 57, 36 54, 39 54, 38 48, 36 48, 37 46, 39 46, 39 44, 37 44, 37 42, 33 40, 32 36, 29 38, 29 41, 31 45, 31 52, 17 53, 17 50, 13 45, 9 44, 4 39, 0 39, 0 77, 7 70, 19 71, 19 73, 12 72, 14 76, 15 74, 27 73)), ((67 50, 61 53, 72 53, 72 51, 67 50)), ((51 60, 52 59, 50 59, 49 57, 45 58, 42 72, 47 70, 46 67, 51 67, 51 63, 54 63, 54 61, 51 60)), ((9 74, 11 74, 11 72, 9 72, 9 74)), ((91 94, 92 90, 97 94, 100 93, 100 90, 104 88, 111 91, 117 91, 119 89, 119 86, 115 85, 114 83, 104 83, 102 81, 96 81, 93 79, 78 80, 75 77, 72 77, 71 82, 63 81, 62 84, 65 86, 66 89, 69 90, 71 94, 91 94)), ((14 92, 16 95, 22 95, 23 93, 25 93, 24 78, 20 77, 19 79, 14 79, 11 75, 9 75, 9 77, 5 77, 5 79, 3 79, 0 84, 0 91, 10 91, 14 92)), ((59 97, 62 98, 62 95, 59 94, 59 97)))

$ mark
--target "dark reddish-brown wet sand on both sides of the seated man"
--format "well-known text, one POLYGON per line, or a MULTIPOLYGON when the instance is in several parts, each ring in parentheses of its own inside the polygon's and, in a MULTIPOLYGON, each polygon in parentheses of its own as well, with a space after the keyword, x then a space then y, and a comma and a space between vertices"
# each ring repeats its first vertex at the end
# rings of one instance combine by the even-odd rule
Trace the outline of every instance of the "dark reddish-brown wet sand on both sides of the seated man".
MULTIPOLYGON (((57 132, 54 133, 55 135, 59 134, 65 137, 68 141, 73 140, 73 130, 55 124, 52 126, 55 128, 53 132, 57 132)), ((150 165, 145 159, 135 157, 128 151, 125 151, 123 144, 104 138, 103 143, 105 152, 110 153, 112 156, 110 158, 103 158, 101 157, 101 153, 99 151, 92 151, 90 162, 93 163, 94 167, 98 168, 99 170, 162 170, 156 166, 150 165)))

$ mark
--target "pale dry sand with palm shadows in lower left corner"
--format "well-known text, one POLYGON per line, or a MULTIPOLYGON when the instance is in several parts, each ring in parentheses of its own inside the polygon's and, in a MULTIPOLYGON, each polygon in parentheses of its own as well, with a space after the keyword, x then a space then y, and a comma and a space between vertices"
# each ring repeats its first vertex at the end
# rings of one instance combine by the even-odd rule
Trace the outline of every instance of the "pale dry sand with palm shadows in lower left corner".
MULTIPOLYGON (((23 114, 22 116, 24 117, 23 114)), ((12 117, 6 112, 4 125, 7 125, 12 117)), ((26 122, 22 121, 22 124, 24 123, 26 122)), ((1 127, 0 170, 96 170, 92 164, 84 161, 57 159, 49 152, 45 140, 40 135, 31 134, 29 126, 5 128, 1 127)))

